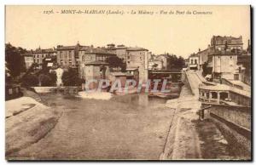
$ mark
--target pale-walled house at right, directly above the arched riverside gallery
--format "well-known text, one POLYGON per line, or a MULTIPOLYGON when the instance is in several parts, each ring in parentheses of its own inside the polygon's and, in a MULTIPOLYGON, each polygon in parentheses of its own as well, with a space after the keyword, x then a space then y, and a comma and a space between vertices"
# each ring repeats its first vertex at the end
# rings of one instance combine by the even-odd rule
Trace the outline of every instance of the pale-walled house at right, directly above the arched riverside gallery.
POLYGON ((208 67, 212 68, 213 80, 221 78, 240 80, 239 67, 237 65, 237 54, 232 52, 215 51, 209 54, 208 67))

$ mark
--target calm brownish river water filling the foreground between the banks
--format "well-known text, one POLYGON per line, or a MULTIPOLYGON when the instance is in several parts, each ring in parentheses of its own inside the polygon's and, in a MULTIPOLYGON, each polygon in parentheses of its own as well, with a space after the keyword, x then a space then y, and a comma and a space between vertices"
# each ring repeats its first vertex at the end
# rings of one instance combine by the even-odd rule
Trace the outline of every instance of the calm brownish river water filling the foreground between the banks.
POLYGON ((111 100, 42 94, 62 113, 44 139, 20 151, 35 159, 159 159, 174 111, 147 94, 111 100))

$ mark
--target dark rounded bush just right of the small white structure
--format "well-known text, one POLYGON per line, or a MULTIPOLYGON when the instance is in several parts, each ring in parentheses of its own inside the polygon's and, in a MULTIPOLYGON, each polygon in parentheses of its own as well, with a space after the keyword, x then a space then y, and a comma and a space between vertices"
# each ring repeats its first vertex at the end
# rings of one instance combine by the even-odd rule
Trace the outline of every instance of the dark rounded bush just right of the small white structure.
POLYGON ((79 72, 72 68, 64 71, 61 79, 64 86, 80 86, 84 83, 83 79, 79 78, 79 72))

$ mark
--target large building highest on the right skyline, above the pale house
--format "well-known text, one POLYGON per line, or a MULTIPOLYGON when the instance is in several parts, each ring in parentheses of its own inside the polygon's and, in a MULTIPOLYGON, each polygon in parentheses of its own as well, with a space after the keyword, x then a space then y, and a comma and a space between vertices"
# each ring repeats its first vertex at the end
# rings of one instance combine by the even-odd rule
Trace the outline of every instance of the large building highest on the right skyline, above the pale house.
POLYGON ((242 39, 240 37, 221 37, 213 36, 211 39, 211 46, 214 49, 224 50, 229 49, 231 52, 239 52, 242 50, 242 39))

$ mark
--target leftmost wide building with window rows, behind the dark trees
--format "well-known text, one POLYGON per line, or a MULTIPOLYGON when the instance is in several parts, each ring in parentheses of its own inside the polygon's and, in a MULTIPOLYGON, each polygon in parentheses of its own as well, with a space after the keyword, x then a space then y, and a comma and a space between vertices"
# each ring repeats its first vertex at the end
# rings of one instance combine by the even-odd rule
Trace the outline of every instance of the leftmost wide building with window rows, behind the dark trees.
POLYGON ((38 64, 38 69, 42 69, 42 65, 44 62, 44 59, 51 58, 56 55, 55 48, 37 48, 35 51, 33 51, 33 57, 34 57, 34 63, 38 64))

